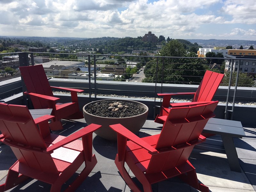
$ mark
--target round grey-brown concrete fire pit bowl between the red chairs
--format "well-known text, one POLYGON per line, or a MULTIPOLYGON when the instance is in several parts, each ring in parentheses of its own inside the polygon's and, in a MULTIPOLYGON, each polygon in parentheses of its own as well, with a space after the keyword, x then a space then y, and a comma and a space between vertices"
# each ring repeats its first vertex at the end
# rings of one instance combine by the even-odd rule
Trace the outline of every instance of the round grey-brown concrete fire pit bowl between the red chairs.
POLYGON ((86 123, 89 124, 100 124, 102 127, 95 131, 97 135, 100 137, 107 139, 107 140, 116 140, 116 132, 114 132, 109 125, 112 124, 122 124, 124 127, 126 127, 128 130, 130 130, 133 133, 137 133, 140 131, 141 127, 144 125, 147 117, 148 117, 148 107, 144 105, 143 103, 137 102, 137 101, 132 101, 132 100, 117 100, 120 102, 129 102, 132 104, 135 104, 136 106, 140 106, 141 108, 146 109, 146 111, 140 115, 136 116, 130 116, 130 117, 102 117, 102 116, 96 116, 88 113, 86 111, 86 108, 88 108, 89 105, 93 105, 99 101, 114 101, 114 100, 98 100, 98 101, 93 101, 91 103, 86 104, 83 107, 83 113, 84 113, 84 119, 86 123))

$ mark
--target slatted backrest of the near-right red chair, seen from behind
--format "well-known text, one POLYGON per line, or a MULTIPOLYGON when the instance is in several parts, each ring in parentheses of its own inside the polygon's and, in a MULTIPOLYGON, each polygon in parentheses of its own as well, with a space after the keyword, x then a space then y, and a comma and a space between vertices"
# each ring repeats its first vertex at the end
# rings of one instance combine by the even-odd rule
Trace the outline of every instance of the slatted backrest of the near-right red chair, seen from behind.
POLYGON ((208 104, 171 108, 156 142, 146 174, 164 172, 185 163, 218 101, 208 104))

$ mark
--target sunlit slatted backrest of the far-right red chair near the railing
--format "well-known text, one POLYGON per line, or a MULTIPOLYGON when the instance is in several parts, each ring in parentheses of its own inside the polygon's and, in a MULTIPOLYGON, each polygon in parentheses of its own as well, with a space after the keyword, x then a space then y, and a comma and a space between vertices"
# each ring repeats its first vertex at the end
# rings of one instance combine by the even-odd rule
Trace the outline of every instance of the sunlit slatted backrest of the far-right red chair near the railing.
POLYGON ((192 101, 211 101, 224 74, 206 70, 192 101))

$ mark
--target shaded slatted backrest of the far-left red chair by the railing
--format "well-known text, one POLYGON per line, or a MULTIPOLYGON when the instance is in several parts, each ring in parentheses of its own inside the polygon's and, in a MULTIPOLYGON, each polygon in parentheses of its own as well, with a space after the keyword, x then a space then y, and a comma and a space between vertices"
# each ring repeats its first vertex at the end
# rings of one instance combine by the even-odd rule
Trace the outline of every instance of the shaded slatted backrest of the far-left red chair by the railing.
MULTIPOLYGON (((45 75, 43 65, 20 67, 20 74, 26 84, 28 92, 52 96, 47 76, 45 75)), ((34 108, 48 108, 47 101, 38 97, 30 96, 34 108)))

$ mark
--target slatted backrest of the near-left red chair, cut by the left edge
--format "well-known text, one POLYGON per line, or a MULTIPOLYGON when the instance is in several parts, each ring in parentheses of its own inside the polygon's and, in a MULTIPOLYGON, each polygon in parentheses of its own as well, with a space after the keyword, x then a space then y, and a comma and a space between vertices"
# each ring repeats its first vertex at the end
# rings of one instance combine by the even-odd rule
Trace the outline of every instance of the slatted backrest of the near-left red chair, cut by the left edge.
POLYGON ((58 174, 27 106, 0 103, 0 131, 20 163, 40 172, 58 174))

